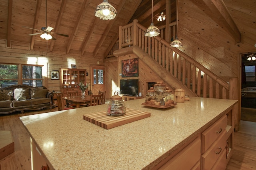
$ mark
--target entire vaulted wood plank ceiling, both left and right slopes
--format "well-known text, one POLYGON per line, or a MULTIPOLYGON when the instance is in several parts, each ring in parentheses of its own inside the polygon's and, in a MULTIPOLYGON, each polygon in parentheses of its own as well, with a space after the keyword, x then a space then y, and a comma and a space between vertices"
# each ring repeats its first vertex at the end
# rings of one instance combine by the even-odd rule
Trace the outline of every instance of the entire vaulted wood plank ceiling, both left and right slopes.
MULTIPOLYGON (((0 39, 6 40, 7 47, 24 44, 24 49, 28 46, 34 51, 79 55, 88 52, 94 57, 96 55, 104 57, 118 39, 120 25, 126 25, 134 19, 138 19, 144 27, 148 27, 151 23, 151 0, 109 0, 116 8, 117 16, 114 20, 107 21, 94 16, 95 8, 101 2, 103 0, 47 0, 46 23, 46 0, 0 0, 0 39), (46 41, 39 35, 28 35, 36 31, 24 26, 35 29, 51 26, 54 28, 52 32, 66 34, 69 37, 55 34, 55 41, 46 41)), ((224 30, 231 33, 236 42, 240 41, 238 30, 256 37, 255 0, 243 0, 243 3, 235 0, 190 0, 190 2, 196 4, 224 30), (244 19, 241 19, 241 15, 244 19), (237 27, 238 29, 235 29, 237 27)), ((180 3, 182 8, 182 1, 180 3)), ((165 21, 156 21, 160 12, 165 13, 165 4, 166 0, 154 0, 153 21, 158 27, 165 25, 165 21)), ((172 22, 176 20, 176 0, 170 0, 170 6, 170 22, 172 22)), ((181 26, 192 27, 192 25, 181 26)), ((197 31, 191 30, 189 34, 191 33, 197 34, 197 31)))

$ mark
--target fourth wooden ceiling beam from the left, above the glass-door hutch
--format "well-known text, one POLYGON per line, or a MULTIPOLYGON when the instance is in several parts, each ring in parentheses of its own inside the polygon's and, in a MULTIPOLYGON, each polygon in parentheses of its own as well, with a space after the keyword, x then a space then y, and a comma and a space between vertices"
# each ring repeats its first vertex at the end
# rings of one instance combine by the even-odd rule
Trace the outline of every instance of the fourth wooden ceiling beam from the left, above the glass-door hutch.
POLYGON ((75 38, 75 36, 76 36, 78 27, 79 27, 79 25, 80 25, 80 23, 81 23, 81 21, 82 21, 83 14, 84 14, 84 12, 85 12, 85 9, 86 9, 86 6, 87 6, 88 2, 89 2, 89 0, 84 0, 84 3, 83 3, 82 6, 81 6, 81 10, 80 10, 80 12, 79 12, 79 14, 78 14, 78 17, 77 17, 77 20, 76 20, 76 24, 75 24, 75 26, 74 26, 74 29, 73 29, 73 31, 72 31, 72 33, 71 33, 71 35, 70 35, 70 39, 69 39, 69 41, 68 41, 68 45, 67 45, 67 48, 66 48, 66 53, 67 53, 67 54, 68 54, 69 51, 70 51, 71 45, 72 45, 72 43, 73 43, 73 41, 74 41, 74 38, 75 38))

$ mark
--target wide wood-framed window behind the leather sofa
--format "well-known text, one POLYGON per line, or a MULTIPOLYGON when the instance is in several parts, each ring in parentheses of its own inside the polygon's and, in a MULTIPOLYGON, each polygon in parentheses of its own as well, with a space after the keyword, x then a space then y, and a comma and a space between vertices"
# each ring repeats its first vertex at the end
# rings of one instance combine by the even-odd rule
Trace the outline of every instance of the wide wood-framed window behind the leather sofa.
POLYGON ((26 84, 33 87, 43 86, 42 66, 0 64, 0 88, 14 84, 26 84))

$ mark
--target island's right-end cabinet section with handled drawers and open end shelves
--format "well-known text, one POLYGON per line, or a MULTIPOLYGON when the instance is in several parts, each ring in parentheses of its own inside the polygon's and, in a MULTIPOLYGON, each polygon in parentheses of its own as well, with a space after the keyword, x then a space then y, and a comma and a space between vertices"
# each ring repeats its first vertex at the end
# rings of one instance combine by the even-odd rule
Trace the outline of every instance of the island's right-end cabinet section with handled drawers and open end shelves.
POLYGON ((201 170, 225 169, 233 148, 232 110, 223 115, 202 134, 201 170))

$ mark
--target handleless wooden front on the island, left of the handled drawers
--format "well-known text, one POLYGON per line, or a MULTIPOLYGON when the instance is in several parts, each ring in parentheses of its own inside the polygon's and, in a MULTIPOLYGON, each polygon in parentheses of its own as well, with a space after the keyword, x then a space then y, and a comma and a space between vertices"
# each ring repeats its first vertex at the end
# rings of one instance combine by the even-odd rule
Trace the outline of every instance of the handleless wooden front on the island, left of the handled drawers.
MULTIPOLYGON (((200 143, 201 140, 197 137, 188 146, 182 149, 178 154, 161 166, 158 170, 186 170, 197 169, 200 162, 200 143)), ((200 167, 200 166, 199 166, 200 167)))

